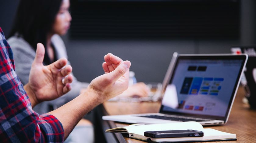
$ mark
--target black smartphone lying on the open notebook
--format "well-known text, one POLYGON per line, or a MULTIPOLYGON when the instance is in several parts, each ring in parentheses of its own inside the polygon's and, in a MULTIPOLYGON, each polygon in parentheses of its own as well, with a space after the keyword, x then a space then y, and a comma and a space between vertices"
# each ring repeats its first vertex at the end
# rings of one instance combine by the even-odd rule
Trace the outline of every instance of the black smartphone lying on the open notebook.
POLYGON ((204 132, 197 130, 145 131, 144 136, 151 138, 202 137, 204 132))

